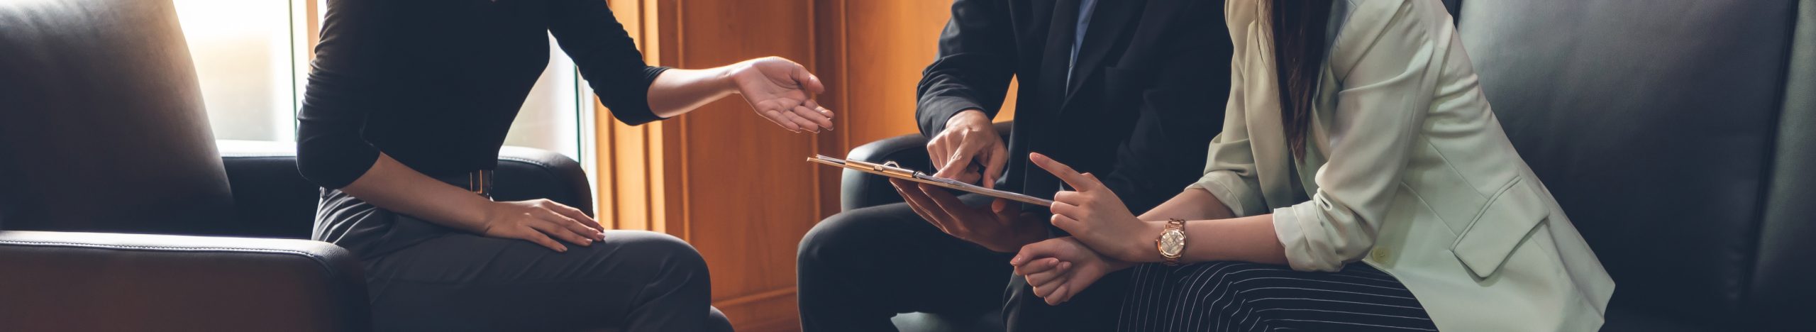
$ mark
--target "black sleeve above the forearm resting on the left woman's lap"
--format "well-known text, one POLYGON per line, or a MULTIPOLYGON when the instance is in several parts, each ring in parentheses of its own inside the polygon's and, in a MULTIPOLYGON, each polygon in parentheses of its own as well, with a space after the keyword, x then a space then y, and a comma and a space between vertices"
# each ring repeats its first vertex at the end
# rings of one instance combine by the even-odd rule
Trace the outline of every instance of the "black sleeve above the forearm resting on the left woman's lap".
POLYGON ((385 65, 385 2, 334 0, 321 20, 321 42, 311 63, 303 109, 296 112, 296 169, 325 189, 347 187, 372 163, 378 149, 360 136, 378 109, 376 74, 385 65))

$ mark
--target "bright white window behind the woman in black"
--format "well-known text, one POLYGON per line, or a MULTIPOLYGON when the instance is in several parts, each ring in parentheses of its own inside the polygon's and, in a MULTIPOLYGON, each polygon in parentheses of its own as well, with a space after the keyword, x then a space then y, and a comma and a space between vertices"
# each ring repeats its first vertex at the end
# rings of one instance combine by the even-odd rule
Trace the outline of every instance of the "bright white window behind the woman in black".
MULTIPOLYGON (((294 142, 312 27, 327 0, 174 0, 216 140, 294 142)), ((510 125, 507 145, 556 151, 590 172, 592 91, 550 44, 548 69, 510 125)))

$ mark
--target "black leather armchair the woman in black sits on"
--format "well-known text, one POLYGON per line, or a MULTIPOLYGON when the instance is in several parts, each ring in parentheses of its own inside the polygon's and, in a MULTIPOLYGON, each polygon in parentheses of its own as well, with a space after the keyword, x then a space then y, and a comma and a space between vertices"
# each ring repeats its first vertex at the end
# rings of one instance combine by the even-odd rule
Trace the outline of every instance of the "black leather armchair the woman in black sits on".
MULTIPOLYGON (((570 158, 499 200, 592 212, 570 158)), ((0 2, 0 330, 369 330, 294 145, 214 142, 169 0, 0 2)))

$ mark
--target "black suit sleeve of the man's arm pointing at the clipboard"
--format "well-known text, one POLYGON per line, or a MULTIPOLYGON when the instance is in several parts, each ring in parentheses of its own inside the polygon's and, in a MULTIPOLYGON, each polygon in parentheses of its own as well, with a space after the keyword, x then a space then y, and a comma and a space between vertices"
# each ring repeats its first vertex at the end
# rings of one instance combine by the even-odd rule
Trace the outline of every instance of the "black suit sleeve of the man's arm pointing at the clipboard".
POLYGON ((939 33, 939 54, 915 89, 921 134, 946 131, 946 120, 964 109, 997 116, 1015 74, 1015 34, 1004 5, 1001 0, 952 2, 952 20, 939 33))

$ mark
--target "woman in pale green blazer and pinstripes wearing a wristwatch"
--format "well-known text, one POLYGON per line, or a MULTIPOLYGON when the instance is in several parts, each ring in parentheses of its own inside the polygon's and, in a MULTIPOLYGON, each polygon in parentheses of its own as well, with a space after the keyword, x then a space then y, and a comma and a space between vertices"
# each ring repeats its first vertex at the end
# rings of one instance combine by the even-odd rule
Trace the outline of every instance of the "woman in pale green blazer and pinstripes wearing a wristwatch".
POLYGON ((1048 303, 1135 269, 1124 330, 1596 330, 1614 281, 1438 0, 1229 0, 1224 131, 1140 216, 1095 176, 1012 263, 1048 303))

